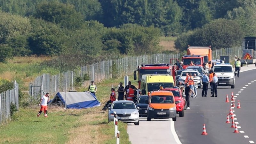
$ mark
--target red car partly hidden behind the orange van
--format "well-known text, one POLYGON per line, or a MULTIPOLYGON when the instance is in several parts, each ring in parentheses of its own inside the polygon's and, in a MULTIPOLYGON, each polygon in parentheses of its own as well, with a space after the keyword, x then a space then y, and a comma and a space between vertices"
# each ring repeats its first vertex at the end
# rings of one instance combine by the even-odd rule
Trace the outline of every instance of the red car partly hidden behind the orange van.
POLYGON ((175 98, 175 101, 178 101, 179 103, 176 104, 176 112, 179 113, 180 117, 184 117, 184 110, 186 106, 186 99, 185 95, 182 95, 182 91, 178 87, 173 87, 173 88, 164 88, 162 90, 171 90, 173 93, 173 96, 175 98))

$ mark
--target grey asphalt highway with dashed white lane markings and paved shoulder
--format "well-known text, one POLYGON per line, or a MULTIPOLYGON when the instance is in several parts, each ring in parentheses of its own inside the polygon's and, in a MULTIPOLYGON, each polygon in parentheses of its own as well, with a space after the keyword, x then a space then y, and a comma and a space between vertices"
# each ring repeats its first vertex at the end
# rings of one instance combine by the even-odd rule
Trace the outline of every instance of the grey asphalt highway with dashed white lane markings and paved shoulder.
POLYGON ((132 144, 246 144, 256 142, 256 67, 242 67, 240 77, 236 77, 235 89, 230 86, 218 87, 218 97, 201 97, 202 89, 197 89, 197 98, 190 98, 190 109, 185 116, 173 122, 171 119, 140 119, 140 126, 128 124, 127 132, 132 144), (247 71, 248 70, 248 71, 247 71), (230 124, 225 123, 231 107, 231 92, 236 100, 232 109, 234 122, 239 133, 233 133, 230 124), (225 103, 228 94, 229 103, 225 103), (240 101, 241 109, 237 109, 240 101), (208 135, 201 135, 205 124, 208 135), (175 130, 174 130, 175 129, 175 130))

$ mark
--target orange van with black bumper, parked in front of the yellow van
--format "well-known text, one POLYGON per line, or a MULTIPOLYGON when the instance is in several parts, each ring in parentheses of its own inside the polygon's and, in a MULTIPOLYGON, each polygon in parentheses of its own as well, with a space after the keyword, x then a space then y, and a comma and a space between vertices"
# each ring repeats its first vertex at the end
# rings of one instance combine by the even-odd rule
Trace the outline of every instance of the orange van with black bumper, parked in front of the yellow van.
MULTIPOLYGON (((178 102, 177 102, 178 103, 178 102)), ((168 119, 176 121, 176 102, 172 91, 152 91, 148 98, 147 120, 168 119)))

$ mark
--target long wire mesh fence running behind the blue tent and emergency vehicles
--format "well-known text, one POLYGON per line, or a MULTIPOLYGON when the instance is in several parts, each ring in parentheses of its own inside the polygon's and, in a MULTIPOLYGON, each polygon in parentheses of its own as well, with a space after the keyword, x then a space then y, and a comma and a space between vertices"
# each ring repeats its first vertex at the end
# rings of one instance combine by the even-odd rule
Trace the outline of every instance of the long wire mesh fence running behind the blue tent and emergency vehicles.
MULTIPOLYGON (((237 55, 242 56, 242 47, 223 48, 212 51, 212 59, 220 59, 220 56, 229 56, 229 62, 237 55)), ((100 82, 116 76, 130 75, 142 63, 159 64, 170 63, 170 58, 180 59, 180 54, 153 54, 141 56, 128 56, 117 60, 100 61, 75 71, 66 71, 58 75, 51 76, 43 74, 38 76, 34 82, 30 83, 29 93, 35 99, 38 99, 45 92, 56 94, 57 92, 75 90, 77 83, 83 83, 88 86, 90 81, 100 82)))

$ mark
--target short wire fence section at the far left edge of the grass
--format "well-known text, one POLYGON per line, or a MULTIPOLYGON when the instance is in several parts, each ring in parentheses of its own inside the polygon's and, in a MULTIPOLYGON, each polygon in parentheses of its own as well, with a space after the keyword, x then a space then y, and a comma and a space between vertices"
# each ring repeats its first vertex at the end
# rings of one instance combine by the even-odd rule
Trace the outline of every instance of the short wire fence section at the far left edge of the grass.
POLYGON ((0 124, 11 119, 11 103, 19 109, 19 84, 13 82, 14 88, 0 93, 0 124))

